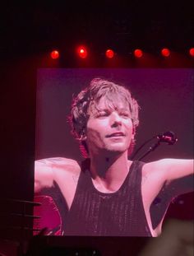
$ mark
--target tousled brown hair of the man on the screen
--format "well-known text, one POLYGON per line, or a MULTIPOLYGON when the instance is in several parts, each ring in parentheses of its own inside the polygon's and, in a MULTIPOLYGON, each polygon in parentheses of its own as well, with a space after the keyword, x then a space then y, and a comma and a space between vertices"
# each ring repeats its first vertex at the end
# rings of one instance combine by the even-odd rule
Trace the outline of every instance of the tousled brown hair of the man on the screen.
MULTIPOLYGON (((84 157, 88 155, 88 148, 82 138, 85 136, 86 124, 90 117, 89 110, 91 105, 98 110, 98 103, 101 98, 104 98, 106 104, 113 109, 116 109, 118 100, 122 99, 129 107, 134 132, 136 132, 139 124, 139 105, 132 98, 130 91, 125 86, 119 86, 113 81, 94 78, 90 81, 90 86, 73 98, 71 114, 68 117, 69 123, 72 126, 72 134, 80 142, 81 153, 84 157)), ((129 153, 132 153, 134 145, 135 142, 132 142, 129 153)))

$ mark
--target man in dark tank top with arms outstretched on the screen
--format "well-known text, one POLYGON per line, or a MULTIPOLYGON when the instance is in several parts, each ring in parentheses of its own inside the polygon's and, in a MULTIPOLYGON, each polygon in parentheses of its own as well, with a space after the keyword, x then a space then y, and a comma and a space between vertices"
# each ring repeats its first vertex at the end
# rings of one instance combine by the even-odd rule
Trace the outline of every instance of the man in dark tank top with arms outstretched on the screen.
POLYGON ((85 161, 35 161, 35 192, 52 191, 62 235, 157 236, 172 199, 193 190, 192 160, 129 160, 138 109, 127 88, 93 79, 69 119, 85 161))

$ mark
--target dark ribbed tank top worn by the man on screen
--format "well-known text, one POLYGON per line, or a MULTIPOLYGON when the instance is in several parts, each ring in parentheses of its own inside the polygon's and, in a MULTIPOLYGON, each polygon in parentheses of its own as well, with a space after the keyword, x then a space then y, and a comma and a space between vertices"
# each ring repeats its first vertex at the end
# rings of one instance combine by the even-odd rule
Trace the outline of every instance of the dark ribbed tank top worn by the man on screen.
POLYGON ((99 192, 90 171, 82 170, 67 215, 62 216, 62 205, 58 206, 62 235, 151 236, 141 197, 143 165, 132 162, 122 186, 114 193, 99 192))

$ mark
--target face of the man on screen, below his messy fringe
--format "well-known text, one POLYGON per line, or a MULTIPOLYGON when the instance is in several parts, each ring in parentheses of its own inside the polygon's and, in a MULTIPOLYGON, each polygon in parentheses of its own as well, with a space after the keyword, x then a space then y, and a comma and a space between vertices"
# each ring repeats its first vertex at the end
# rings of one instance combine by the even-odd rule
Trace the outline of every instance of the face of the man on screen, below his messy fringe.
POLYGON ((85 134, 90 154, 128 150, 133 137, 131 113, 124 100, 117 101, 113 107, 101 98, 97 108, 90 106, 85 134))

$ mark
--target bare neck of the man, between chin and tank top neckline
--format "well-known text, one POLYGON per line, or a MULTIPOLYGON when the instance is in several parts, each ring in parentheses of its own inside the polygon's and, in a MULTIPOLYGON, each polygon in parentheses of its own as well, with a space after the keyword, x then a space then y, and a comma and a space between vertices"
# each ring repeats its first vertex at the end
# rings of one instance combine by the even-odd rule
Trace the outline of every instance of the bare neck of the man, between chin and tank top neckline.
POLYGON ((112 156, 94 156, 90 158, 90 173, 96 189, 101 192, 117 191, 126 178, 131 161, 127 152, 112 156))

